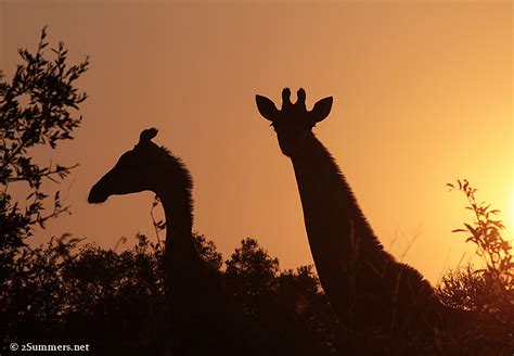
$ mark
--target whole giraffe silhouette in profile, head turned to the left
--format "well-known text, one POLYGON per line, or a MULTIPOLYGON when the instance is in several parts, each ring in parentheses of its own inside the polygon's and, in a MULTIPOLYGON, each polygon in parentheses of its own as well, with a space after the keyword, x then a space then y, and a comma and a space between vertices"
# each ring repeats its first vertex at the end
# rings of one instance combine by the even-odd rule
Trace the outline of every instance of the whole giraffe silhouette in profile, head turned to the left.
POLYGON ((248 354, 245 341, 234 338, 236 323, 220 277, 194 245, 191 175, 180 158, 152 142, 156 135, 155 128, 143 130, 138 144, 93 186, 88 202, 153 191, 165 211, 165 284, 178 334, 178 342, 166 347, 178 355, 206 355, 221 347, 227 355, 248 354))

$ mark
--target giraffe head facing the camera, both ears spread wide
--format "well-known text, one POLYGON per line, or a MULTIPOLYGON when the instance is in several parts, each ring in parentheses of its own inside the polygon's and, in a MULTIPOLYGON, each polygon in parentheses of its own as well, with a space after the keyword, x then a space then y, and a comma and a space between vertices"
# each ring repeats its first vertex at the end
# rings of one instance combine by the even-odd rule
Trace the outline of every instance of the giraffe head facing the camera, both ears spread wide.
POLYGON ((306 139, 312 136, 312 127, 323 120, 332 109, 332 97, 318 101, 311 111, 305 105, 305 90, 297 91, 297 101, 291 102, 291 90, 282 90, 282 109, 278 110, 274 103, 266 97, 256 96, 257 109, 260 115, 271 122, 279 145, 287 156, 294 155, 306 139))

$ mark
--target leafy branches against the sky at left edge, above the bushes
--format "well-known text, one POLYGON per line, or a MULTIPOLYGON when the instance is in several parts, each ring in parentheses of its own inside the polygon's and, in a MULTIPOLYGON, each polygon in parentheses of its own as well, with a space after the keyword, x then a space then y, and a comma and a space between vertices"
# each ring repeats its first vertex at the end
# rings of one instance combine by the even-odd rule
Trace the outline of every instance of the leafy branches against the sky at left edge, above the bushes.
MULTIPOLYGON (((48 42, 41 31, 36 54, 21 49, 23 64, 12 80, 0 72, 0 288, 15 268, 15 255, 25 245, 36 226, 68 211, 57 191, 52 209, 46 212, 48 195, 41 190, 44 178, 62 181, 73 166, 52 164, 41 166, 33 161, 30 150, 36 147, 57 147, 62 140, 73 139, 72 131, 81 116, 70 113, 86 100, 74 86, 87 71, 88 60, 67 65, 67 50, 63 43, 50 49, 55 59, 44 58, 48 42), (14 183, 28 186, 22 202, 13 201, 9 188, 14 183)), ((47 206, 48 208, 48 206, 47 206)))

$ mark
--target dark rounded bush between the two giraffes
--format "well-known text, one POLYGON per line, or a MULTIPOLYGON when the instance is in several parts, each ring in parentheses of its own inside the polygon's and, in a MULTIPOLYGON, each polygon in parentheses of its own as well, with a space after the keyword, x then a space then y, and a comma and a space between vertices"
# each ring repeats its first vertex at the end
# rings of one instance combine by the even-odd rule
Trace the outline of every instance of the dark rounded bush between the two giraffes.
POLYGON ((269 345, 268 354, 329 355, 334 352, 335 322, 310 266, 281 272, 279 259, 244 239, 226 262, 224 278, 234 300, 269 345), (272 351, 271 351, 271 349, 272 351))

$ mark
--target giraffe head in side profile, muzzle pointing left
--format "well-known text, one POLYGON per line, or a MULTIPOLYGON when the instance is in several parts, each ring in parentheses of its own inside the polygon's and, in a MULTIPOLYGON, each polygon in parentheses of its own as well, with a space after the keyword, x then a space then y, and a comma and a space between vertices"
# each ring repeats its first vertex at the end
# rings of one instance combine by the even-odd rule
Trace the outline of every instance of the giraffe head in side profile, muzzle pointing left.
POLYGON ((159 191, 159 171, 168 154, 152 142, 157 129, 143 130, 136 147, 125 152, 116 165, 105 174, 89 192, 89 203, 103 203, 111 195, 137 193, 144 190, 159 191))

